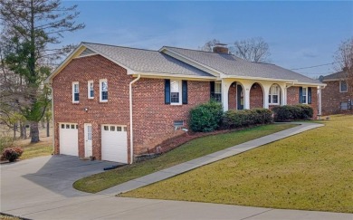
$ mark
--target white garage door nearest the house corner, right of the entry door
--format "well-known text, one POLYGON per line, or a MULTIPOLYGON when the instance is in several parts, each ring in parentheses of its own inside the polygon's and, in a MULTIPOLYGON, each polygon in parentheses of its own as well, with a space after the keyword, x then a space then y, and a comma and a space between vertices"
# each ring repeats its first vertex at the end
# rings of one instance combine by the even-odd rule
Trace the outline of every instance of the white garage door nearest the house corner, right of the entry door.
POLYGON ((101 126, 101 159, 128 163, 128 132, 126 126, 101 126))

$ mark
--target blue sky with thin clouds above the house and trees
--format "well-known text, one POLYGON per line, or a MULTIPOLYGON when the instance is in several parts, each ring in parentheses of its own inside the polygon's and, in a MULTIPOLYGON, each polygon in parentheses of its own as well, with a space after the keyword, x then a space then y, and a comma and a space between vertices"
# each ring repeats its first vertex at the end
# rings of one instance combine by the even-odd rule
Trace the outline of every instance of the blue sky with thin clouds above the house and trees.
MULTIPOLYGON (((262 37, 273 63, 293 69, 333 62, 339 43, 353 36, 353 1, 64 1, 78 5, 86 28, 64 43, 107 43, 157 50, 197 49, 205 42, 262 37)), ((332 65, 297 70, 310 77, 332 65)))

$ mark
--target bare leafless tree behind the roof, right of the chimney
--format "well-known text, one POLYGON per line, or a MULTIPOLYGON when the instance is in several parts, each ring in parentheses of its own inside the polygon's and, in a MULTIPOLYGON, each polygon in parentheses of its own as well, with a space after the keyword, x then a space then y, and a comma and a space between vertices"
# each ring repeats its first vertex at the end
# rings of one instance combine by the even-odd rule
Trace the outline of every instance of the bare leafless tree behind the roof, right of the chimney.
POLYGON ((270 47, 262 37, 236 41, 232 52, 250 62, 270 62, 270 47))

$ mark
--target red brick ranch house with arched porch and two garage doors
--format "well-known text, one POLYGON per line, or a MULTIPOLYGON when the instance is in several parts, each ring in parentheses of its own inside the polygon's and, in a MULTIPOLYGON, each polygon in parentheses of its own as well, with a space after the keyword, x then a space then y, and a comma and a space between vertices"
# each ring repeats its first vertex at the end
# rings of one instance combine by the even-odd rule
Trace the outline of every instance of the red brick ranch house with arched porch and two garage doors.
POLYGON ((54 152, 132 163, 183 134, 188 111, 211 99, 225 110, 305 103, 324 86, 274 64, 244 61, 224 46, 202 52, 81 43, 46 80, 54 152))

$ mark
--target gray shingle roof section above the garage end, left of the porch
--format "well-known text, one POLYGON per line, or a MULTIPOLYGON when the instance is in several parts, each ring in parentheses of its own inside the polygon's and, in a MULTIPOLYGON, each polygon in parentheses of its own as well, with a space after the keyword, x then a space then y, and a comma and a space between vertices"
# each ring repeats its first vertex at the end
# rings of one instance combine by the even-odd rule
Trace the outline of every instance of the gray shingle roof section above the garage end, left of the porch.
POLYGON ((82 43, 91 50, 109 57, 135 72, 184 74, 190 76, 212 76, 165 53, 112 46, 99 43, 82 43))

